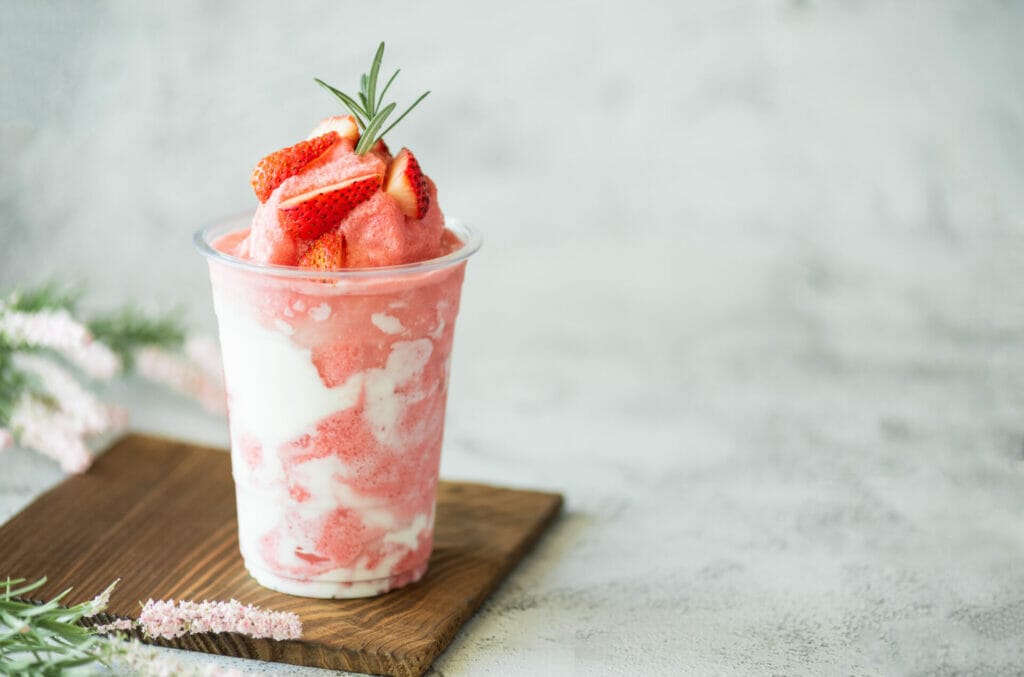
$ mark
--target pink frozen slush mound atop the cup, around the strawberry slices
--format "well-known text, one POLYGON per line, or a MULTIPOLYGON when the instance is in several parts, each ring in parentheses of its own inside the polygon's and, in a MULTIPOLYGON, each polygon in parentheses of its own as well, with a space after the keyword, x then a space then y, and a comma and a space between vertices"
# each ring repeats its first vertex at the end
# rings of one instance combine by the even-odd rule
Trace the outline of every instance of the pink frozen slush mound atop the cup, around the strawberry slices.
MULTIPOLYGON (((351 141, 339 140, 302 173, 279 185, 256 209, 249 236, 225 251, 261 263, 296 265, 312 242, 294 239, 284 230, 278 212, 281 203, 349 179, 383 177, 386 170, 384 158, 374 153, 357 156, 352 152, 351 141)), ((423 218, 404 216, 391 196, 378 191, 333 228, 345 238, 345 267, 399 265, 439 255, 444 216, 437 204, 437 188, 429 178, 427 181, 430 207, 423 218)))

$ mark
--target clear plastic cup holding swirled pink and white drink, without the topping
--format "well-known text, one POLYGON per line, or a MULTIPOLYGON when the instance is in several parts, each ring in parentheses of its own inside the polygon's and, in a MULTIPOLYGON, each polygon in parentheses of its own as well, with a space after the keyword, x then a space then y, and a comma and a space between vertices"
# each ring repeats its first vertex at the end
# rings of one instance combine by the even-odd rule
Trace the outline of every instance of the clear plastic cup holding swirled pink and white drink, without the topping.
POLYGON ((251 217, 209 225, 207 257, 227 387, 239 546, 262 586, 303 597, 415 583, 433 547, 449 365, 466 259, 315 271, 218 245, 251 217))

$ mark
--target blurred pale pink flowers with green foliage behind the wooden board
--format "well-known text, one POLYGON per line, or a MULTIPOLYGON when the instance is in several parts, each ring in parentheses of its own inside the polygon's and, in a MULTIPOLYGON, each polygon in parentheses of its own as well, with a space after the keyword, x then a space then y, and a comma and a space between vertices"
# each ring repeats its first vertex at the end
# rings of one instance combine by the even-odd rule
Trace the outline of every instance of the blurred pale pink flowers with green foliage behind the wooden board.
POLYGON ((79 296, 50 284, 0 298, 0 451, 17 443, 66 471, 85 471, 92 461, 88 445, 123 429, 128 419, 125 409, 104 405, 89 386, 133 365, 143 378, 226 413, 215 342, 188 338, 173 313, 132 306, 79 319, 79 296), (83 374, 89 378, 80 382, 83 374))

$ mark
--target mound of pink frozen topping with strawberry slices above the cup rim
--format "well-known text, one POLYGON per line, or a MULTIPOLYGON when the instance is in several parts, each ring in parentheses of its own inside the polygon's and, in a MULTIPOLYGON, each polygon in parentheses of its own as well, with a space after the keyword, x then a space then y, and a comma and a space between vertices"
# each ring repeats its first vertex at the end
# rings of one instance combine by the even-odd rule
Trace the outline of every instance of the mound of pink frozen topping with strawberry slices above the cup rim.
POLYGON ((351 116, 328 118, 310 138, 257 165, 263 200, 227 253, 322 270, 413 263, 440 256, 444 215, 437 188, 408 149, 383 140, 359 155, 351 116))

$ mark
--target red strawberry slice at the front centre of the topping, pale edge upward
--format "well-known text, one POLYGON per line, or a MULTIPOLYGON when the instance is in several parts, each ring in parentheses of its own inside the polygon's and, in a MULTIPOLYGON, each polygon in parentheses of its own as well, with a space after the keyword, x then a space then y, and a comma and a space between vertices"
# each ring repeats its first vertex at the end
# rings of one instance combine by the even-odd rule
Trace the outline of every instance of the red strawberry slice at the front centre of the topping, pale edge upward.
POLYGON ((380 184, 381 177, 373 174, 289 198, 278 209, 281 225, 293 238, 315 240, 341 223, 380 184))

